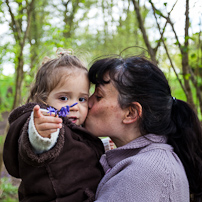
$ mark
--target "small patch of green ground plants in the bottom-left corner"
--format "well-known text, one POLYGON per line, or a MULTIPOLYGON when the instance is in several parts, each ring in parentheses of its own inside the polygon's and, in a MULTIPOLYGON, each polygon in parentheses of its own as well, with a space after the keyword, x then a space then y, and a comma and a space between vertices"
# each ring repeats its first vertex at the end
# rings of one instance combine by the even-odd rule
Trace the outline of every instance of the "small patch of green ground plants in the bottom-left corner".
POLYGON ((18 188, 13 186, 12 183, 8 178, 1 178, 0 179, 0 201, 1 202, 17 202, 18 188))

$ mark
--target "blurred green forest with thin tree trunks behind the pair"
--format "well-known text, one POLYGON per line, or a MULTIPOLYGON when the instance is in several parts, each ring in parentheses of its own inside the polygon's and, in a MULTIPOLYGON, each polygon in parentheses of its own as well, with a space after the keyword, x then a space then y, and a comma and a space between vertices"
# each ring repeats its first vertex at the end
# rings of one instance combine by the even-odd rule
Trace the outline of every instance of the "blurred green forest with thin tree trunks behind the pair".
MULTIPOLYGON (((73 49, 89 67, 131 46, 123 56, 151 58, 172 96, 189 102, 202 120, 201 11, 201 0, 0 0, 0 121, 25 103, 43 58, 55 57, 57 48, 73 49)), ((5 176, 1 182, 0 199, 16 201, 16 189, 5 176)))

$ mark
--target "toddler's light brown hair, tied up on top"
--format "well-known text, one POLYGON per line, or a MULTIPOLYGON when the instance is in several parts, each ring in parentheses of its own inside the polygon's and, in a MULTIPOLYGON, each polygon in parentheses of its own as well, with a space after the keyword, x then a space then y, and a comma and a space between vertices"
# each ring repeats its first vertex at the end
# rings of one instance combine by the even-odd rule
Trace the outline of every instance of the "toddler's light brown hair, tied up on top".
POLYGON ((49 93, 66 79, 64 76, 65 69, 82 69, 88 73, 87 68, 83 62, 73 55, 73 51, 57 49, 57 58, 51 59, 44 57, 42 66, 39 68, 35 83, 31 88, 30 95, 27 99, 28 102, 45 103, 49 93))

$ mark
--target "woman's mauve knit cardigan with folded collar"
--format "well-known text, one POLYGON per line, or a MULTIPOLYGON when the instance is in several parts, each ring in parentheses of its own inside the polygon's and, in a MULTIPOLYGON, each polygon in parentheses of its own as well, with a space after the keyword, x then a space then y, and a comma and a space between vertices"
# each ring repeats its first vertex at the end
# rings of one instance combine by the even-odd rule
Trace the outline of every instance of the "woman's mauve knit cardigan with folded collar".
POLYGON ((96 202, 188 202, 184 167, 166 139, 139 137, 100 160, 106 174, 96 202))

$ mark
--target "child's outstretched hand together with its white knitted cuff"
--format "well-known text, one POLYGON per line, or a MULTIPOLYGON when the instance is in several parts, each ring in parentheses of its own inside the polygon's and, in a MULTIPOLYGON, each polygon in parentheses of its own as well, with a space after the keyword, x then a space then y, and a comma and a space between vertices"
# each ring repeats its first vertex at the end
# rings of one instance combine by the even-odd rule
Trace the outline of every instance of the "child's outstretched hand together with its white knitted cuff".
POLYGON ((62 119, 50 115, 44 115, 40 107, 36 105, 29 122, 29 140, 35 153, 43 153, 50 150, 56 143, 59 129, 62 127, 62 119))

